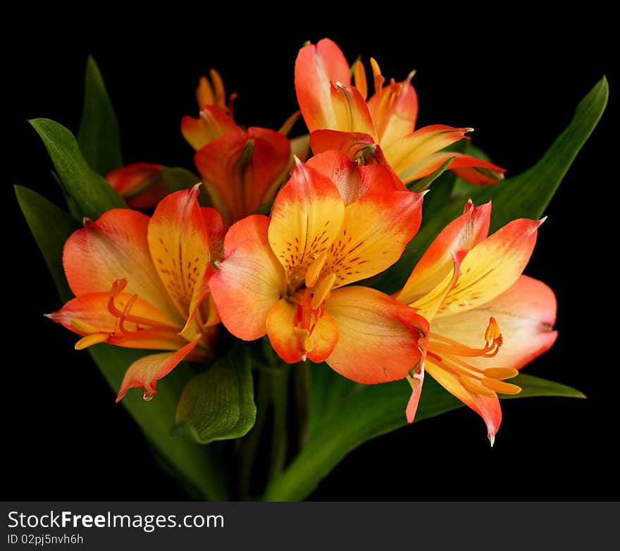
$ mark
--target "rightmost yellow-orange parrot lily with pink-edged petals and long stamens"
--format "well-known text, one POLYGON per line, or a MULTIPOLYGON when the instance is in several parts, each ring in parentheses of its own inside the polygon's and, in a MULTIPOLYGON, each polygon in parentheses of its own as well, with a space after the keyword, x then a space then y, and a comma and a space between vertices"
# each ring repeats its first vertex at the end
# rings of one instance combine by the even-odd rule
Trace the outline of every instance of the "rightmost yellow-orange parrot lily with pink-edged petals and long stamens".
POLYGON ((497 394, 521 389, 505 380, 557 338, 557 304, 541 281, 521 275, 542 221, 521 218, 488 235, 491 204, 466 204, 422 256, 395 295, 430 323, 426 361, 409 377, 412 422, 424 370, 480 414, 493 445, 502 420, 497 394))

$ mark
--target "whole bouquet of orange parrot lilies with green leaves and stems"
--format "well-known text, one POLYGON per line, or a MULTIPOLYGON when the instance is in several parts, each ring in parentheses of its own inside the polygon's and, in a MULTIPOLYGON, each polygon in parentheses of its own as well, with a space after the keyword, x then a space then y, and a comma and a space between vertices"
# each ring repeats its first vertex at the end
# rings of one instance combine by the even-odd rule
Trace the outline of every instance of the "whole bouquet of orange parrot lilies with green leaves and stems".
POLYGON ((187 168, 123 166, 92 58, 77 137, 30 121, 66 197, 17 187, 63 303, 47 316, 195 497, 302 500, 408 423, 464 404, 493 445, 500 399, 582 396, 520 372, 557 338, 554 293, 523 270, 606 80, 504 179, 471 128, 416 128, 412 77, 306 44, 299 111, 273 130, 242 125, 211 70, 187 168))

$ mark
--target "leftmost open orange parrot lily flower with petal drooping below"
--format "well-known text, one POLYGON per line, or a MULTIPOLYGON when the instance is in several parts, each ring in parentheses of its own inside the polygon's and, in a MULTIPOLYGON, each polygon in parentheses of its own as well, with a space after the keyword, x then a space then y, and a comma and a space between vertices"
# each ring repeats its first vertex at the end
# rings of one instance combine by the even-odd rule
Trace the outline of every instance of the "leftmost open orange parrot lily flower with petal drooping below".
POLYGON ((63 266, 73 294, 49 318, 82 338, 165 350, 135 361, 118 400, 130 388, 156 395, 156 382, 182 359, 208 359, 218 314, 209 297, 211 260, 221 255, 224 228, 214 209, 201 208, 198 186, 168 195, 151 218, 113 209, 67 240, 63 266))

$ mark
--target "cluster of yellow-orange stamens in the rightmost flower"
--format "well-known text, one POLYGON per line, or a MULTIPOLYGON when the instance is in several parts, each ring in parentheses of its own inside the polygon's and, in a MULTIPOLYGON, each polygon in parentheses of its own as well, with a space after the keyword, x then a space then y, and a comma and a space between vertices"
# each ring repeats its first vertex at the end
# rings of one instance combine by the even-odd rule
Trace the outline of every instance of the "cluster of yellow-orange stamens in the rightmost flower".
POLYGON ((464 360, 464 358, 476 357, 492 358, 500 352, 504 338, 495 318, 489 319, 484 335, 485 345, 479 349, 463 345, 437 333, 431 333, 430 339, 427 356, 433 359, 433 363, 457 376, 467 390, 489 397, 495 396, 495 392, 501 394, 521 392, 519 386, 504 382, 505 379, 515 377, 519 373, 516 369, 512 367, 481 369, 464 360))

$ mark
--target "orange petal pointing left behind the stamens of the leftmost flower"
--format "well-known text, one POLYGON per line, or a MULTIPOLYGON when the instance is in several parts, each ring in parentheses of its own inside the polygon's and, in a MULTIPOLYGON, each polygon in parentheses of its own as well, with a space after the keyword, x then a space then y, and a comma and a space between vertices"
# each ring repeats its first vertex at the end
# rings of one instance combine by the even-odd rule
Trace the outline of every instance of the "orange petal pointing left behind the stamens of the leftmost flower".
POLYGON ((78 335, 106 335, 104 340, 117 346, 176 350, 185 344, 186 340, 178 336, 180 327, 175 325, 174 319, 168 318, 140 298, 133 299, 133 295, 127 292, 120 293, 114 299, 114 306, 123 311, 131 301, 132 316, 150 320, 157 328, 146 328, 144 324, 139 326, 135 322, 125 321, 121 331, 117 327, 116 316, 109 311, 109 299, 109 292, 80 295, 48 317, 78 335))

